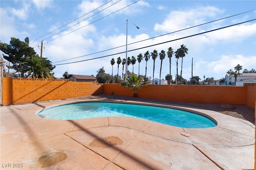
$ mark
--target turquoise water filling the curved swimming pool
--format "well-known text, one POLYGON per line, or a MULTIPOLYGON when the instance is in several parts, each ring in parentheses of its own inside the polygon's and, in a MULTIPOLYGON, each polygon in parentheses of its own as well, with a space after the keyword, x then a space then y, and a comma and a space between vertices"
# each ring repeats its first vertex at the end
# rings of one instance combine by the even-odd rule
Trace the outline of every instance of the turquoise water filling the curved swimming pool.
POLYGON ((92 117, 135 117, 184 128, 210 128, 216 123, 202 115, 147 105, 88 102, 73 103, 45 109, 37 114, 45 119, 74 120, 92 117))

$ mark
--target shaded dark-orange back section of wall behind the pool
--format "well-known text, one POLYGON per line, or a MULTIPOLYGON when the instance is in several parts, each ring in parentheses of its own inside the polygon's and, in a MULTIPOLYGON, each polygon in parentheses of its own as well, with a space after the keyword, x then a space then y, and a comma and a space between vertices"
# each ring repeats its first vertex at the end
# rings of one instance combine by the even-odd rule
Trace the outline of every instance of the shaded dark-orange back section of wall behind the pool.
MULTIPOLYGON (((146 99, 245 105, 245 89, 245 86, 147 85, 138 90, 137 95, 146 99)), ((133 96, 131 89, 122 87, 120 84, 104 84, 104 93, 133 96)))

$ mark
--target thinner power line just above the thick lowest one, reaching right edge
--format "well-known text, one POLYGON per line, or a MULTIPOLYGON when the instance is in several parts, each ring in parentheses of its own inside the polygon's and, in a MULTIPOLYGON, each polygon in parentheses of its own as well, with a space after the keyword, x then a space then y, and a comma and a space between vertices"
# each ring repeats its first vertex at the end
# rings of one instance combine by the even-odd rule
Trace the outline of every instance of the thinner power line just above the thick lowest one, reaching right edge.
MULTIPOLYGON (((256 10, 256 9, 254 9, 256 10)), ((233 17, 233 16, 238 16, 238 15, 241 15, 241 14, 245 14, 247 12, 252 12, 254 10, 250 10, 250 11, 246 11, 246 12, 242 12, 240 14, 235 14, 235 15, 232 15, 232 16, 228 16, 228 17, 225 17, 225 18, 221 18, 221 19, 218 19, 218 20, 214 20, 214 21, 211 21, 211 22, 206 22, 204 24, 200 24, 200 25, 197 25, 197 26, 192 26, 192 27, 189 27, 189 28, 185 28, 185 29, 182 29, 182 30, 178 30, 178 31, 175 31, 175 32, 180 32, 180 31, 184 31, 184 30, 187 30, 187 29, 190 29, 190 28, 194 28, 194 27, 198 27, 198 26, 202 26, 202 25, 205 25, 205 24, 209 24, 209 23, 212 23, 212 22, 216 22, 216 21, 220 21, 220 20, 224 20, 226 18, 230 18, 230 17, 233 17)), ((172 34, 172 33, 175 33, 175 32, 170 32, 170 33, 167 33, 167 34, 163 34, 161 36, 166 36, 168 34, 172 34)), ((161 36, 156 36, 156 37, 153 37, 153 38, 158 38, 158 37, 161 37, 161 36)), ((153 39, 153 38, 148 38, 146 40, 150 40, 150 39, 153 39)), ((143 41, 146 41, 146 40, 141 40, 141 41, 138 41, 138 42, 143 42, 143 41)), ((134 42, 134 43, 138 43, 138 42, 134 42)), ((134 44, 134 43, 129 43, 128 45, 131 45, 131 44, 134 44)), ((70 59, 76 59, 76 58, 80 58, 80 57, 85 57, 85 56, 88 56, 88 55, 92 55, 92 54, 96 54, 96 53, 101 53, 101 52, 104 52, 104 51, 108 51, 108 50, 111 50, 111 49, 116 49, 116 48, 120 48, 120 47, 124 47, 125 45, 121 45, 119 47, 114 47, 114 48, 110 48, 110 49, 106 49, 106 50, 103 50, 103 51, 98 51, 98 52, 95 52, 95 53, 90 53, 90 54, 87 54, 87 55, 82 55, 82 56, 79 56, 79 57, 74 57, 74 58, 70 58, 70 59)), ((65 59, 65 60, 62 60, 62 61, 68 61, 70 59, 65 59)), ((56 62, 53 62, 53 63, 59 63, 59 62, 62 62, 62 61, 56 61, 56 62)))

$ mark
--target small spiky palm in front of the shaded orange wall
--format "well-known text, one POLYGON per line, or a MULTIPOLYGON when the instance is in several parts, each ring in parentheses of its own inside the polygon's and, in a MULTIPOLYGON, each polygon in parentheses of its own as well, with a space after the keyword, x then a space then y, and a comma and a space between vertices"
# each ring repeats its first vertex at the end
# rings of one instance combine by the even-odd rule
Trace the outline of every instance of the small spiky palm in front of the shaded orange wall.
POLYGON ((137 77, 134 73, 131 73, 130 78, 125 77, 125 79, 127 79, 127 82, 123 81, 121 85, 133 89, 133 97, 137 97, 137 90, 141 89, 144 85, 148 85, 148 81, 144 82, 143 76, 137 77))

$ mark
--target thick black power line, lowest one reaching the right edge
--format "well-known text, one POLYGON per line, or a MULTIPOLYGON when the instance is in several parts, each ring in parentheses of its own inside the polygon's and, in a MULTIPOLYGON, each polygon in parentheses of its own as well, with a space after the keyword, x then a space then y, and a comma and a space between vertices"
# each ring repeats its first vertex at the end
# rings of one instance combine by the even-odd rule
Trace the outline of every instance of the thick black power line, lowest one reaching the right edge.
MULTIPOLYGON (((154 44, 154 45, 148 45, 148 46, 146 46, 146 47, 140 47, 140 48, 137 48, 137 49, 132 49, 132 50, 129 50, 128 52, 130 52, 130 51, 136 51, 136 50, 138 50, 138 49, 143 49, 143 48, 147 48, 147 47, 152 47, 152 46, 155 46, 155 45, 160 45, 160 44, 163 44, 163 43, 168 43, 168 42, 173 42, 173 41, 177 41, 177 40, 182 40, 182 39, 184 39, 184 38, 190 38, 190 37, 193 37, 193 36, 198 36, 198 35, 201 35, 201 34, 205 34, 205 33, 208 33, 208 32, 213 32, 213 31, 217 31, 217 30, 224 29, 224 28, 228 28, 228 27, 232 27, 232 26, 244 24, 244 23, 251 22, 251 21, 254 21, 254 20, 256 20, 256 19, 248 20, 248 21, 245 21, 245 22, 240 22, 240 23, 238 23, 238 24, 233 24, 233 25, 230 25, 230 26, 225 26, 225 27, 222 27, 222 28, 217 28, 217 29, 214 29, 214 30, 210 30, 210 31, 206 31, 206 32, 198 33, 198 34, 193 34, 193 35, 191 35, 191 36, 186 36, 186 37, 178 38, 178 39, 175 39, 175 40, 170 40, 170 41, 167 41, 167 42, 162 42, 162 43, 157 43, 157 44, 154 44)), ((96 57, 96 58, 92 58, 92 59, 99 59, 99 58, 109 57, 109 56, 112 56, 112 55, 117 55, 117 54, 122 54, 122 53, 126 53, 126 51, 120 52, 120 53, 115 53, 115 54, 110 54, 110 55, 105 55, 105 56, 102 56, 102 57, 96 57)), ((84 56, 85 56, 85 55, 84 55, 84 56)), ((82 61, 89 61, 89 60, 92 60, 92 59, 86 59, 86 60, 82 60, 82 61)), ((78 63, 78 62, 82 62, 82 61, 74 61, 74 62, 70 62, 70 63, 62 63, 62 64, 56 64, 56 65, 64 65, 64 64, 78 63)))

